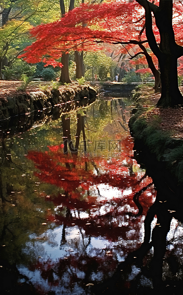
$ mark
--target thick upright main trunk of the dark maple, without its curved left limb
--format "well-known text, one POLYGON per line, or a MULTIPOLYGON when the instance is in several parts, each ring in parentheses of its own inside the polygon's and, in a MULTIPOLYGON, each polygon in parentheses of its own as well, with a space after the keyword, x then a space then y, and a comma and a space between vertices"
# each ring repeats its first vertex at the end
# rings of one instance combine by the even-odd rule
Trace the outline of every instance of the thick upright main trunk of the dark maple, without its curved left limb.
POLYGON ((155 14, 155 19, 160 33, 159 49, 162 52, 158 56, 161 73, 161 98, 157 106, 162 107, 183 105, 183 96, 179 90, 177 76, 178 51, 182 49, 183 55, 183 48, 175 42, 172 14, 173 1, 161 0, 159 2, 159 11, 155 14))

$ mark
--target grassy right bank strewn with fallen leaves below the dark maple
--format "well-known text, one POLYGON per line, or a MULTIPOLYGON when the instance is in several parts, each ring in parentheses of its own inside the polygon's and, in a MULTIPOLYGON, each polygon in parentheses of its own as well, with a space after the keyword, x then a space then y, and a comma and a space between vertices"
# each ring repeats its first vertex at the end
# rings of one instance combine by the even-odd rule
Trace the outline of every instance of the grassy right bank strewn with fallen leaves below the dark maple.
POLYGON ((182 111, 180 109, 176 111, 171 108, 163 110, 154 107, 153 102, 157 102, 159 94, 152 94, 153 91, 149 92, 148 89, 149 87, 147 86, 141 86, 136 89, 141 94, 140 100, 136 103, 136 108, 139 110, 130 119, 130 129, 134 138, 144 142, 149 150, 156 154, 158 160, 167 162, 167 168, 177 177, 180 184, 183 182, 183 140, 179 139, 176 141, 176 139, 171 138, 174 135, 174 131, 169 127, 169 122, 171 118, 177 116, 181 127, 182 111), (156 96, 156 98, 151 99, 152 95, 156 96), (169 128, 162 129, 161 125, 169 128))

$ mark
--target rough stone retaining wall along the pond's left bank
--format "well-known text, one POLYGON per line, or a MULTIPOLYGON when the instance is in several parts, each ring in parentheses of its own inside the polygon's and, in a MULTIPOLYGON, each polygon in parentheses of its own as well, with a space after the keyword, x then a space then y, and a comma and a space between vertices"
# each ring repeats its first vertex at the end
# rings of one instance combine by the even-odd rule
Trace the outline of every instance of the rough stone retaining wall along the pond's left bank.
POLYGON ((7 97, 0 102, 0 120, 28 114, 58 104, 62 106, 62 112, 69 112, 78 104, 80 106, 90 104, 96 94, 97 92, 93 88, 84 86, 82 89, 75 89, 75 91, 60 92, 53 89, 51 91, 22 93, 15 97, 7 97))

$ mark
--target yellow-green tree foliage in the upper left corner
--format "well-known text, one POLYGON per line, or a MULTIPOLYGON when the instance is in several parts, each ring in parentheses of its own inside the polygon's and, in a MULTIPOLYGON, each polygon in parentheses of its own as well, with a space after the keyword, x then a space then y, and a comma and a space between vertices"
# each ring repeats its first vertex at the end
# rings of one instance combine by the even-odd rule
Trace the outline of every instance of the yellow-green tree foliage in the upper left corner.
POLYGON ((0 79, 4 66, 12 67, 18 55, 30 44, 31 26, 60 18, 58 1, 5 0, 0 2, 0 79))

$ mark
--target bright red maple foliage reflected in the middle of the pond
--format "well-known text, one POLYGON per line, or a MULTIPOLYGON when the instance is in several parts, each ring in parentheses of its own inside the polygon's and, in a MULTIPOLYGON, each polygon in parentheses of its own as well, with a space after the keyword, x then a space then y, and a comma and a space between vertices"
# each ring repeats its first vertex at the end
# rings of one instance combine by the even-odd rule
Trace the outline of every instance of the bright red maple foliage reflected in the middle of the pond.
POLYGON ((145 176, 138 179, 139 175, 131 169, 134 164, 131 155, 132 146, 131 137, 126 137, 122 143, 121 157, 111 158, 110 161, 101 157, 65 155, 62 146, 49 146, 50 151, 45 153, 29 152, 27 157, 33 160, 35 167, 39 169, 35 172, 39 180, 63 190, 62 193, 52 194, 49 198, 45 195, 45 200, 52 201, 57 208, 60 208, 60 213, 67 208, 66 216, 58 212, 54 215, 49 213, 47 219, 56 224, 64 224, 65 227, 72 227, 74 224, 85 230, 88 235, 104 236, 108 240, 116 241, 120 236, 125 238, 126 231, 131 227, 130 223, 125 227, 119 225, 121 216, 129 215, 132 219, 136 216, 134 226, 137 227, 138 235, 139 222, 151 206, 154 193, 146 198, 146 195, 152 191, 151 178, 145 176), (126 160, 125 165, 124 160, 126 160), (111 196, 109 202, 108 198, 100 194, 101 184, 105 184, 110 189, 118 188, 121 197, 111 196), (96 191, 95 194, 93 190, 96 191), (127 195, 126 190, 130 190, 127 195), (101 208, 105 214, 101 214, 101 208), (129 210, 127 208, 130 208, 130 212, 127 212, 129 210), (89 210, 90 214, 88 217, 78 218, 71 213, 75 210, 78 212, 89 210), (111 227, 109 220, 112 219, 111 227))

